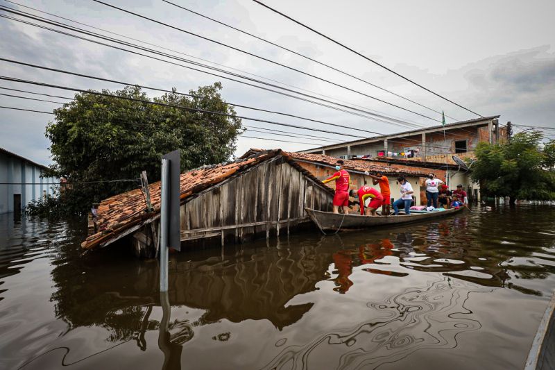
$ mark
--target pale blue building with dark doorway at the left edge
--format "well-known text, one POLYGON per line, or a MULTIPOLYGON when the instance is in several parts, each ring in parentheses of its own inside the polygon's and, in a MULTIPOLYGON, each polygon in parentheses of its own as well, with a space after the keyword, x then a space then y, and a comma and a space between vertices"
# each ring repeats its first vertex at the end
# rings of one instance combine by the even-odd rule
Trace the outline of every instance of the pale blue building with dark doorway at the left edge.
POLYGON ((40 177, 45 169, 46 166, 0 148, 0 213, 21 212, 27 203, 53 195, 58 179, 40 177))

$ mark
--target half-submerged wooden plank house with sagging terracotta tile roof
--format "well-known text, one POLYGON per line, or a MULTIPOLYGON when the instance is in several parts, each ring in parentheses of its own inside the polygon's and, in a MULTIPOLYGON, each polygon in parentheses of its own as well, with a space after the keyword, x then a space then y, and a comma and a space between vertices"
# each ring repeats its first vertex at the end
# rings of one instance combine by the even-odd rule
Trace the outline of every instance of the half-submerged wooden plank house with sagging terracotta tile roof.
MULTIPOLYGON (((181 240, 237 244, 289 233, 309 224, 305 207, 331 210, 334 191, 281 150, 247 153, 239 160, 181 174, 181 240)), ((126 238, 137 255, 157 253, 160 182, 148 186, 153 212, 142 190, 105 199, 83 249, 126 238)))

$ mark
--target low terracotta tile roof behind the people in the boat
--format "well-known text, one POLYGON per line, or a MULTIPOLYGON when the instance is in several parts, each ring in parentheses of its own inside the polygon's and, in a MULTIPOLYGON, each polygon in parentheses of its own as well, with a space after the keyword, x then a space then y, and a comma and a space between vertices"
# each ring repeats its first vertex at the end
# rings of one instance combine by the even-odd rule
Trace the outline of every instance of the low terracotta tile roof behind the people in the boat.
MULTIPOLYGON (((254 150, 254 149, 251 149, 254 150)), ((330 157, 330 155, 323 154, 311 154, 311 153, 287 153, 293 160, 306 160, 308 162, 321 163, 323 165, 335 166, 339 158, 330 157)), ((370 173, 376 173, 381 171, 388 175, 415 175, 415 176, 426 176, 424 169, 401 169, 399 167, 393 167, 388 165, 381 165, 376 163, 374 160, 366 159, 356 159, 345 160, 345 169, 351 171, 368 171, 370 173)))

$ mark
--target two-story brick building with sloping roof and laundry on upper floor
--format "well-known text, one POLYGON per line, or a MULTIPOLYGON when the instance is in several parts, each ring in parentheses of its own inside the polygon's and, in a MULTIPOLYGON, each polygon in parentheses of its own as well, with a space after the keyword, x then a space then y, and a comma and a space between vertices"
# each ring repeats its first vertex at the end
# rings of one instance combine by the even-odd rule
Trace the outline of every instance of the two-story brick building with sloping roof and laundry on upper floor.
MULTIPOLYGON (((453 156, 461 160, 475 158, 479 142, 495 144, 506 140, 506 127, 499 126, 499 116, 470 119, 445 126, 433 126, 391 135, 342 142, 300 151, 343 159, 364 159, 417 172, 429 171, 445 180, 450 189, 463 185, 470 198, 479 200, 479 184, 472 183, 468 168, 461 168, 453 156)), ((472 167, 470 165, 470 167, 472 167)), ((471 170, 471 168, 470 168, 471 170)), ((425 186, 420 181, 422 201, 425 186)))

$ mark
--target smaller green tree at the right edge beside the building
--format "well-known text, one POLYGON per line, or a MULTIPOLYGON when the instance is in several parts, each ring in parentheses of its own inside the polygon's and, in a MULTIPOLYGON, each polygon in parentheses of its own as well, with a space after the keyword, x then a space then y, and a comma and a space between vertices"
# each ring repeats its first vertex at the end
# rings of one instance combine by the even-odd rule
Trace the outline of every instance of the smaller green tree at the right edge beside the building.
POLYGON ((541 146, 540 131, 514 135, 511 142, 480 143, 472 165, 472 180, 486 196, 546 201, 555 199, 555 142, 541 146))

